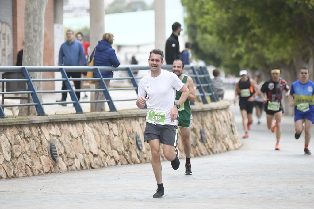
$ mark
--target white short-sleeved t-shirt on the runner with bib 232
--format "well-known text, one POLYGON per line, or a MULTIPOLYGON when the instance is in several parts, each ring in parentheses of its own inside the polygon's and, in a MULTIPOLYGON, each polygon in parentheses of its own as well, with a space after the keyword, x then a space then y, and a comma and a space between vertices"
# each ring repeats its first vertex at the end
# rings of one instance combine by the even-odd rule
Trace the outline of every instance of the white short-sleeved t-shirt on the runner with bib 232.
POLYGON ((182 87, 183 83, 175 73, 163 69, 157 77, 152 77, 150 73, 144 76, 139 82, 138 97, 148 99, 146 121, 149 110, 162 111, 166 113, 165 125, 176 125, 176 121, 171 122, 171 115, 168 114, 175 105, 176 90, 182 87))

